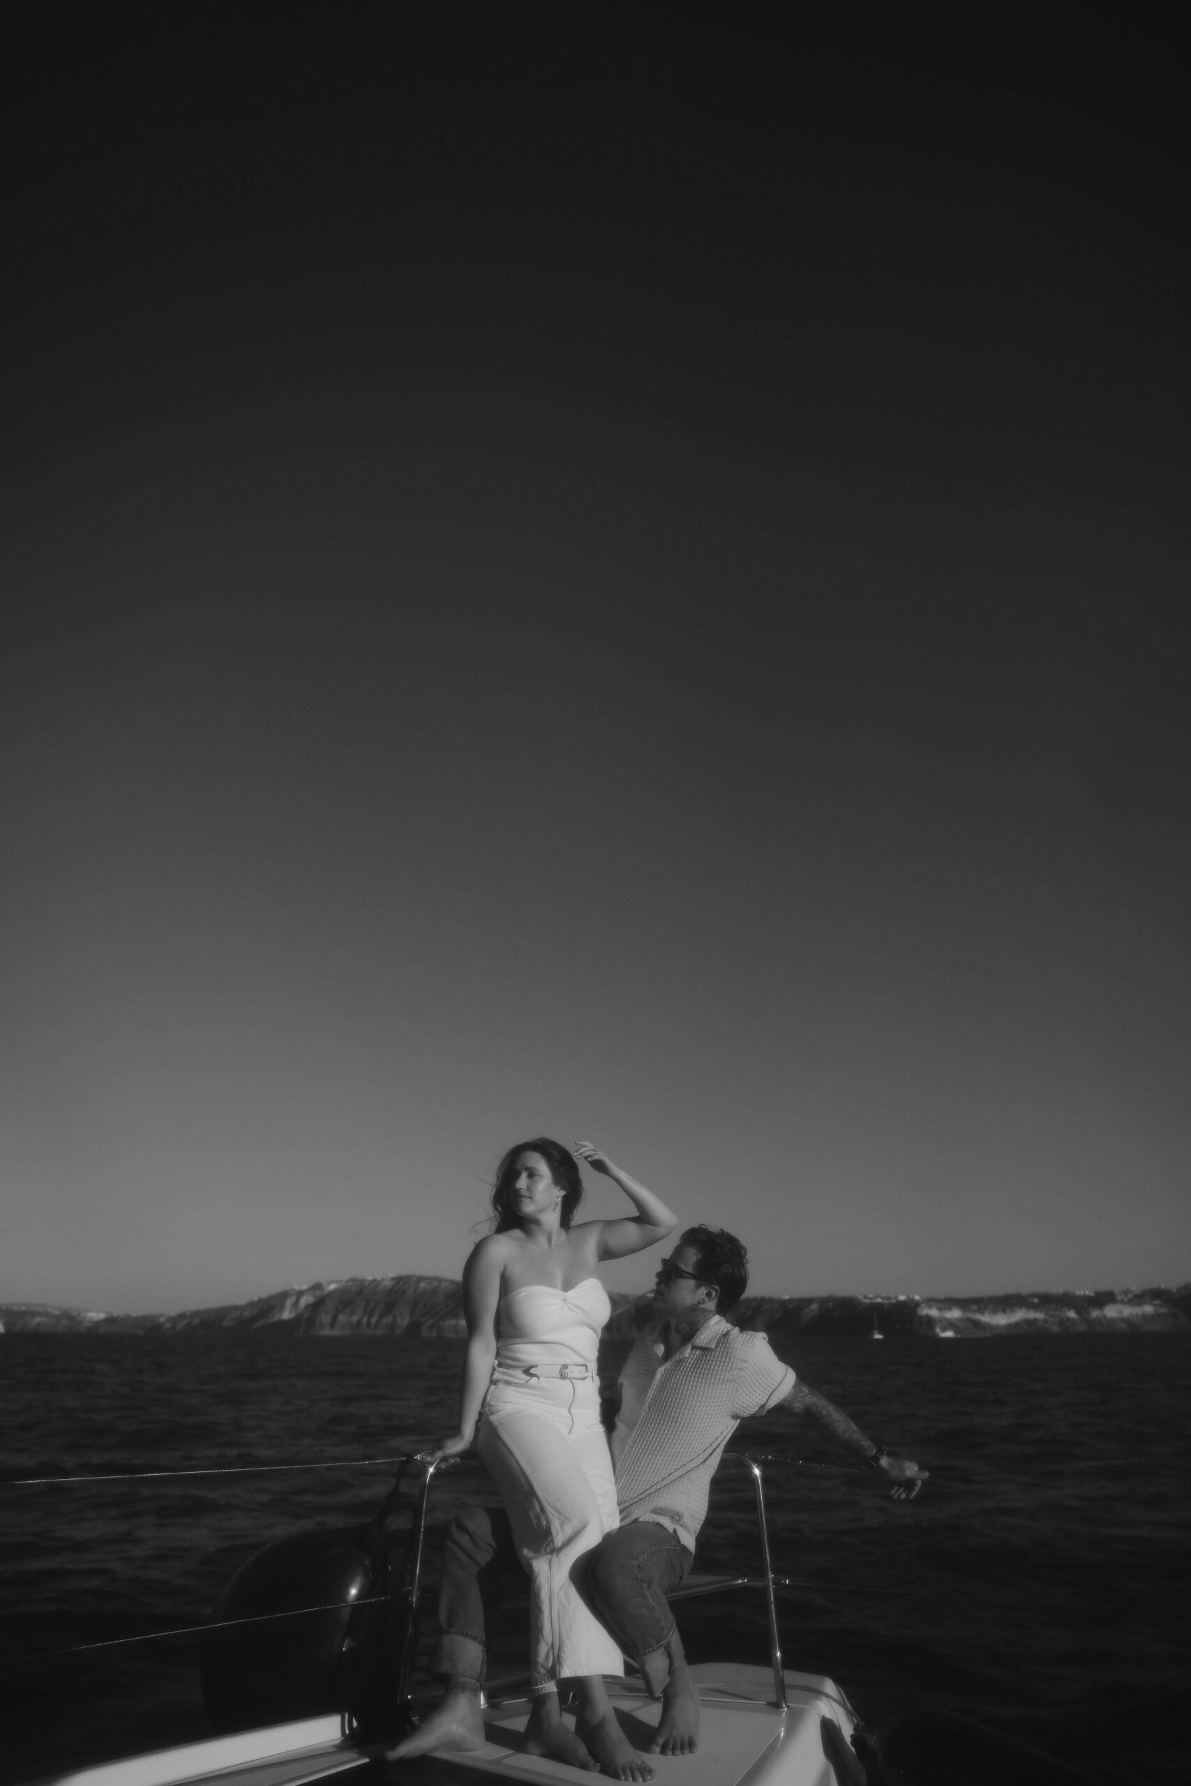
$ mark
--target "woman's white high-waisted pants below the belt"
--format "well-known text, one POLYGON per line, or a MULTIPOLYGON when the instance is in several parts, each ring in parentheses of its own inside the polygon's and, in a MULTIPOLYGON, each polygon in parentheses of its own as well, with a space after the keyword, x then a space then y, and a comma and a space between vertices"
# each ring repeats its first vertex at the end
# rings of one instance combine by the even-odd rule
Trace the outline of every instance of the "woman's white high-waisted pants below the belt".
POLYGON ((496 1370, 475 1448, 493 1477, 529 1575, 530 1691, 625 1672, 580 1597, 580 1559, 620 1523, 595 1372, 586 1381, 496 1370))

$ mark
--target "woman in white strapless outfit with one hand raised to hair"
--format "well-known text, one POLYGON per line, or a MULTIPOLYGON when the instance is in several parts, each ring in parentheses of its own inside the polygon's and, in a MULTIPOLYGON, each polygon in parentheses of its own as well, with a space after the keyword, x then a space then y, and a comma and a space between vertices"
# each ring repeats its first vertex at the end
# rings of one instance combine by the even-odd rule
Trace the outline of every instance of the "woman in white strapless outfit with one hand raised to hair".
POLYGON ((573 1568, 618 1523, 596 1377, 611 1304, 596 1266, 664 1239, 679 1218, 600 1148, 580 1143, 575 1154, 620 1184, 637 1213, 571 1225, 582 1197, 575 1156, 545 1136, 509 1148, 493 1191, 496 1229, 462 1275, 459 1431, 432 1456, 475 1443, 530 1577, 530 1750, 646 1781, 654 1770, 625 1740, 602 1679, 623 1673, 621 1654, 579 1595, 573 1568), (575 1732, 559 1711, 559 1681, 579 1686, 575 1732))

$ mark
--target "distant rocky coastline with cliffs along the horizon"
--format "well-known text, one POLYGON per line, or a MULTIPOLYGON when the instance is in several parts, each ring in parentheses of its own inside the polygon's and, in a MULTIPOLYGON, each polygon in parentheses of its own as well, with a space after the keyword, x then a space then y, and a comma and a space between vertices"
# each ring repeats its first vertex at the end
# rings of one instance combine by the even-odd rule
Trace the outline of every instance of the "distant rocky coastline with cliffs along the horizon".
MULTIPOLYGON (((630 1338, 648 1302, 612 1295, 607 1332, 630 1338)), ((1029 1332, 1191 1332, 1191 1284, 1030 1297, 745 1297, 741 1327, 805 1338, 977 1340, 1029 1332)), ((0 1332, 246 1332, 466 1338, 462 1286, 450 1277, 346 1277, 254 1302, 182 1314, 104 1314, 41 1302, 0 1304, 0 1332)))

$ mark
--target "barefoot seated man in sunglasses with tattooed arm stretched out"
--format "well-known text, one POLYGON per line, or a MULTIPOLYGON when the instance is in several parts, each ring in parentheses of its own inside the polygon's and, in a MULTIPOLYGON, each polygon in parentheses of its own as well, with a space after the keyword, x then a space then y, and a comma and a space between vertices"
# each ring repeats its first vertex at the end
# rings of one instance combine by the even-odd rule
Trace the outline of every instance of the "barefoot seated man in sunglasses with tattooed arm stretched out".
MULTIPOLYGON (((666 1602, 695 1557, 707 1491, 737 1423, 777 1407, 814 1420, 891 1482, 895 1500, 912 1500, 927 1472, 873 1445, 848 1416, 798 1382, 759 1332, 725 1320, 748 1286, 748 1259, 723 1229, 687 1229, 662 1259, 654 1289, 657 1320, 636 1340, 620 1373, 620 1409, 611 1438, 620 1527, 587 1557, 584 1591, 621 1650, 662 1700, 650 1752, 691 1754, 698 1740, 698 1695, 666 1602)), ((468 1507, 446 1540, 439 1597, 436 1672, 450 1677, 443 1702, 389 1750, 411 1759, 484 1741, 484 1609, 480 1582, 518 1559, 504 1511, 468 1507)), ((637 1761, 623 1779, 650 1779, 637 1761)))

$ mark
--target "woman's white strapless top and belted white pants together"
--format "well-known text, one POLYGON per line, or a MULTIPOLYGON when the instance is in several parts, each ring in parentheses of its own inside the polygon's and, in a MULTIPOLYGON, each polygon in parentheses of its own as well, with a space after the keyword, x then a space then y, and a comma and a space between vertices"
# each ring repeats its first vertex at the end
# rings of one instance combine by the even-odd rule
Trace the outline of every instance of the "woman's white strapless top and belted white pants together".
POLYGON ((598 1277, 573 1289, 527 1284, 496 1309, 496 1365, 475 1448, 530 1579, 532 1691, 623 1673, 620 1648, 571 1581, 579 1557, 620 1523, 596 1377, 611 1313, 598 1277))

